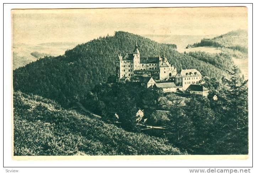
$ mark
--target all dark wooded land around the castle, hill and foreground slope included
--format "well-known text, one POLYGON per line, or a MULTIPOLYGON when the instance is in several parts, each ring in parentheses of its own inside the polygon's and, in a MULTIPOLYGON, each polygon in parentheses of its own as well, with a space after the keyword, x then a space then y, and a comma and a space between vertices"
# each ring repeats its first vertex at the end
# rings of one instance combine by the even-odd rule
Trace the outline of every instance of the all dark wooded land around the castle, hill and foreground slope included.
POLYGON ((215 38, 227 46, 222 53, 178 53, 176 45, 118 31, 14 70, 15 155, 247 154, 247 81, 232 60, 245 53, 228 45, 229 36, 215 38), (178 71, 199 70, 208 98, 115 83, 117 53, 131 52, 136 40, 142 56, 165 54, 178 71), (101 120, 69 110, 78 102, 101 120), (139 108, 147 125, 164 129, 138 126, 139 108))

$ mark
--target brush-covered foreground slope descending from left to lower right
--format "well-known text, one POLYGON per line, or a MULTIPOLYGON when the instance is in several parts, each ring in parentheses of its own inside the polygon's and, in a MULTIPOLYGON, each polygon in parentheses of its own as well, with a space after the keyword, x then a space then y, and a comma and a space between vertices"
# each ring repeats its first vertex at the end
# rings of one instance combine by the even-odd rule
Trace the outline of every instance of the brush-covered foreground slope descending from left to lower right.
POLYGON ((182 155, 167 140, 131 133, 37 95, 14 92, 14 155, 182 155))

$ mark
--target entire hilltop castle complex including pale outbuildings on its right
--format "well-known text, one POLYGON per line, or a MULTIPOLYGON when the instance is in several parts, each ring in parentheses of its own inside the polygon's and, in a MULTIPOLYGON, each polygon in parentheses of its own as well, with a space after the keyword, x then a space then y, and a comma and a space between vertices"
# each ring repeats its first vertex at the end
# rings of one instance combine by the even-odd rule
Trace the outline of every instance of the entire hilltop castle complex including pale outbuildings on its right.
POLYGON ((161 88, 163 91, 185 91, 191 84, 202 79, 196 69, 181 69, 170 64, 165 57, 141 57, 137 41, 132 53, 116 58, 116 81, 137 81, 147 88, 161 88))

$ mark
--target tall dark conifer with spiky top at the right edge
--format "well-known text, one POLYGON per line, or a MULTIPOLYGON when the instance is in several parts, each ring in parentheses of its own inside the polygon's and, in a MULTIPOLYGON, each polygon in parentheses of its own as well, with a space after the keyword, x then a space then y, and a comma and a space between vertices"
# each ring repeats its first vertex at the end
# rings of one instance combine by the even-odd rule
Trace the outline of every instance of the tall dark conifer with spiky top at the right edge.
MULTIPOLYGON (((224 79, 228 87, 222 95, 224 99, 223 105, 223 119, 222 135, 217 141, 223 149, 228 150, 232 154, 246 154, 248 153, 248 80, 239 83, 238 77, 239 69, 233 66, 230 80, 224 79)), ((223 150, 222 149, 222 150, 223 150)), ((226 154, 227 151, 220 152, 226 154)))

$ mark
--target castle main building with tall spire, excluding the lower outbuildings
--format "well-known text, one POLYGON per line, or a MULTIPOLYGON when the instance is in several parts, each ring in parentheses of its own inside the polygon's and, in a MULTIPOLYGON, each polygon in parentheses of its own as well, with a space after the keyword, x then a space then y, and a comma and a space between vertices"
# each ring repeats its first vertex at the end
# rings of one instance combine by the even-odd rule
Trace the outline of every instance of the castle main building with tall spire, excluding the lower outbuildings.
POLYGON ((140 57, 137 41, 133 53, 116 58, 116 77, 120 82, 122 79, 130 79, 134 74, 154 74, 159 80, 169 80, 175 77, 177 68, 170 65, 165 55, 160 57, 140 57))

